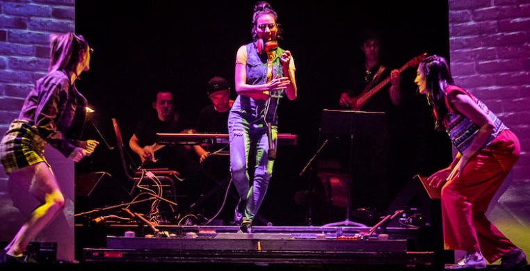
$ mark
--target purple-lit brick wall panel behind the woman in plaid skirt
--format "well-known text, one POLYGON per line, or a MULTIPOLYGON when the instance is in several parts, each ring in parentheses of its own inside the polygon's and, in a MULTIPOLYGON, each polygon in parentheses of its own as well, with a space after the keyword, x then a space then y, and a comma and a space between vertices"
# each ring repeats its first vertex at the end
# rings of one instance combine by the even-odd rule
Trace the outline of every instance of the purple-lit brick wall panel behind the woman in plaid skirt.
MULTIPOLYGON (((0 2, 0 134, 17 117, 33 83, 47 72, 49 34, 75 29, 75 1, 0 2)), ((57 243, 57 260, 74 261, 74 163, 53 148, 45 156, 54 167, 67 205, 37 242, 57 243)), ((0 242, 7 243, 38 202, 26 193, 8 191, 0 170, 0 242), (11 198, 15 199, 15 208, 11 198), (19 211, 20 210, 20 211, 19 211), (21 214, 22 212, 22 214, 21 214)), ((3 248, 3 247, 2 247, 3 248)))

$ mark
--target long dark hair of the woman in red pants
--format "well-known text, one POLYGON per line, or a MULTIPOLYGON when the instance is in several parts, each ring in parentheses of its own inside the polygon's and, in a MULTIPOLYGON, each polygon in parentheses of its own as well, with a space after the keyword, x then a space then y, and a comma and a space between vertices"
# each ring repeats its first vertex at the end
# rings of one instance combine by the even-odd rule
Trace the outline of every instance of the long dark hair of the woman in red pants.
POLYGON ((435 129, 444 131, 444 123, 449 112, 445 103, 445 97, 447 95, 445 88, 448 85, 454 85, 451 69, 449 69, 447 60, 437 55, 428 56, 421 61, 419 63, 419 69, 421 69, 426 77, 427 101, 433 107, 435 129))

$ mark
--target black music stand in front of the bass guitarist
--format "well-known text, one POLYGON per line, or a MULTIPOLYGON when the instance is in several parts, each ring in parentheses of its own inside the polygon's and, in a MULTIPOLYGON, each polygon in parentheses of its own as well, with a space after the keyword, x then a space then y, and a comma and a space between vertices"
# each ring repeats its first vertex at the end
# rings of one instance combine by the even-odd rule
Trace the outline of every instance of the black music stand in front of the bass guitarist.
MULTIPOLYGON (((356 111, 356 110, 331 110, 323 109, 320 123, 320 133, 328 136, 349 136, 350 157, 348 165, 348 198, 346 204, 346 220, 323 225, 323 227, 367 225, 350 220, 351 188, 353 183, 353 142, 359 126, 380 122, 385 117, 384 112, 356 111)), ((360 131, 362 132, 362 131, 360 131)))

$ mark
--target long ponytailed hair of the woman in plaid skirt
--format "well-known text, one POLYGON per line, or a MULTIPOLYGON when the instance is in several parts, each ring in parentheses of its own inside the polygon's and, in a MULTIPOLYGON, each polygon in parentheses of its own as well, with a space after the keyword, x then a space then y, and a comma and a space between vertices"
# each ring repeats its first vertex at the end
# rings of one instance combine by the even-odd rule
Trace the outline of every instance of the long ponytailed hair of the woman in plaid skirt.
POLYGON ((48 72, 59 69, 76 72, 76 66, 81 58, 81 53, 89 48, 88 42, 82 35, 72 32, 50 35, 50 63, 48 72))

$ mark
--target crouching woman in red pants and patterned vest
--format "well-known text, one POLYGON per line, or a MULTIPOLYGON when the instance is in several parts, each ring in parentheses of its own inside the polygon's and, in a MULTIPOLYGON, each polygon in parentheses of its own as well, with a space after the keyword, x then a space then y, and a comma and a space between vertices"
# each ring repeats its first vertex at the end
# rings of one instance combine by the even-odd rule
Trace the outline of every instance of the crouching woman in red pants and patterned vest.
POLYGON ((517 136, 485 104, 455 85, 447 60, 425 58, 415 83, 434 111, 435 128, 447 131, 458 149, 453 163, 428 178, 442 187, 444 248, 466 255, 446 269, 483 269, 501 258, 501 268, 527 265, 516 247, 485 216, 488 206, 519 158, 517 136))

